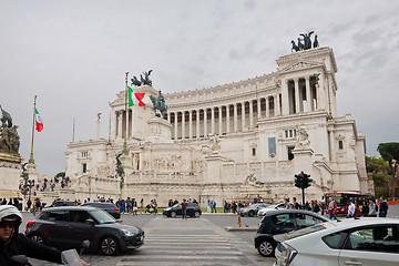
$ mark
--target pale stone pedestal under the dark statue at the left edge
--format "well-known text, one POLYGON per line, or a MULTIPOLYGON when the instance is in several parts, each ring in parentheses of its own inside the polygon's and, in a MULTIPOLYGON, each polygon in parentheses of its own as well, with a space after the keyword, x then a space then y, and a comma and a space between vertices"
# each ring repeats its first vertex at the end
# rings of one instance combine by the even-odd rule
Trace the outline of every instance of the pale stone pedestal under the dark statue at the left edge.
POLYGON ((19 191, 22 161, 19 154, 0 153, 0 197, 22 197, 19 191))

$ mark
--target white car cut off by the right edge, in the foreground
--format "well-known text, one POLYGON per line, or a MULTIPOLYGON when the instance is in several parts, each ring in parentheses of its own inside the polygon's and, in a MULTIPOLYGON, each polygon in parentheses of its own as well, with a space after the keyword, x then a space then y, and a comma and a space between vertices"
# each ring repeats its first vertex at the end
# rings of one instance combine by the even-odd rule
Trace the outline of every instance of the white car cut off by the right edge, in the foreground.
POLYGON ((398 266, 399 219, 327 222, 275 236, 275 266, 398 266))

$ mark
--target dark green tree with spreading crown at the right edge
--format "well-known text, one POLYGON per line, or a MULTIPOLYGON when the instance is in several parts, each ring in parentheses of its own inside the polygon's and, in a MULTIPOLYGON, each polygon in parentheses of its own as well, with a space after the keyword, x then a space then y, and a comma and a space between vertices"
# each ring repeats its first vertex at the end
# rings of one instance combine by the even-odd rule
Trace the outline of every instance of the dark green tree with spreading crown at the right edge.
POLYGON ((399 142, 380 143, 377 147, 381 157, 388 162, 391 176, 388 180, 389 196, 398 196, 397 171, 399 164, 399 142))

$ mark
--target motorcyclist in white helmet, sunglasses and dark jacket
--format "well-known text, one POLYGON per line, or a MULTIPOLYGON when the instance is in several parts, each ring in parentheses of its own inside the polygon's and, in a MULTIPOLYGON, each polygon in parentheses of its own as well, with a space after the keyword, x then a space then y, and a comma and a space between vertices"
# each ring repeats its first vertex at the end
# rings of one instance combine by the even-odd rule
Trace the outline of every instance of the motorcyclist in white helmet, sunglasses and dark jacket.
MULTIPOLYGON (((27 257, 61 264, 61 252, 27 238, 18 233, 22 215, 14 206, 0 206, 0 265, 19 265, 12 257, 27 257)), ((84 266, 86 263, 82 260, 84 266)))

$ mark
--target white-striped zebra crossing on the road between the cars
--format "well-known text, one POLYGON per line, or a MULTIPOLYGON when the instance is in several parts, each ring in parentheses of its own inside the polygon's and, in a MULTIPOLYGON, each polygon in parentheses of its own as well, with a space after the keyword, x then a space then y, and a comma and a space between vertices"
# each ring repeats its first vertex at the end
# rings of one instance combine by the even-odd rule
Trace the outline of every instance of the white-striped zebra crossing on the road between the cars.
MULTIPOLYGON (((144 227, 144 245, 117 266, 130 265, 266 265, 246 256, 248 243, 229 239, 209 226, 208 221, 155 218, 144 227), (245 245, 245 246, 243 246, 245 245)), ((256 249, 252 247, 252 253, 256 249)), ((270 264, 272 265, 272 264, 270 264)))

